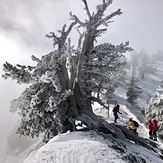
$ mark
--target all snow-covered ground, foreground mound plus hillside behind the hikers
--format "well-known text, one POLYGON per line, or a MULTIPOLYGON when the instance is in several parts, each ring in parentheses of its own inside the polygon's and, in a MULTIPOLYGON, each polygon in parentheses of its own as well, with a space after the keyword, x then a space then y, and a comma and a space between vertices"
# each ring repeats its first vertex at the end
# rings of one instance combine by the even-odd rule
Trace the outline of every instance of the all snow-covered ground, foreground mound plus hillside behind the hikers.
MULTIPOLYGON (((158 85, 163 81, 163 66, 162 63, 158 64, 158 74, 147 75, 140 83, 143 93, 137 103, 142 108, 145 107, 146 101, 155 94, 158 85)), ((139 136, 148 138, 148 129, 142 121, 139 121, 139 115, 134 115, 126 107, 126 89, 125 84, 121 85, 114 95, 114 99, 120 104, 120 110, 123 113, 119 115, 118 124, 126 125, 128 118, 133 117, 140 124, 138 128, 139 136)), ((114 105, 110 105, 109 117, 108 110, 96 103, 94 104, 94 112, 103 116, 109 123, 113 123, 113 107, 114 105)), ((118 141, 121 144, 122 140, 118 141)), ((126 148, 123 147, 122 150, 114 149, 113 142, 114 138, 106 140, 93 131, 68 132, 54 137, 45 145, 42 144, 40 139, 24 151, 17 149, 19 153, 13 151, 13 153, 5 154, 5 151, 1 151, 0 163, 123 163, 126 162, 127 153, 142 157, 147 163, 163 162, 153 151, 149 151, 133 142, 123 141, 122 143, 125 144, 126 148)), ((161 145, 159 141, 158 144, 161 145)))

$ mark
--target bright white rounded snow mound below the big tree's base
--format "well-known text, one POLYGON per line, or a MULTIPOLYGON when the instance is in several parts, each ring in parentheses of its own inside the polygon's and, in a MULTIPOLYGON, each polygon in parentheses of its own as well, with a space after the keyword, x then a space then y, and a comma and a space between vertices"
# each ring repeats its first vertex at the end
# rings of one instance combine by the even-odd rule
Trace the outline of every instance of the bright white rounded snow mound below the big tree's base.
POLYGON ((100 163, 108 160, 117 163, 125 162, 120 159, 120 153, 108 150, 110 143, 106 143, 93 131, 61 134, 51 139, 34 156, 29 156, 24 163, 100 163))

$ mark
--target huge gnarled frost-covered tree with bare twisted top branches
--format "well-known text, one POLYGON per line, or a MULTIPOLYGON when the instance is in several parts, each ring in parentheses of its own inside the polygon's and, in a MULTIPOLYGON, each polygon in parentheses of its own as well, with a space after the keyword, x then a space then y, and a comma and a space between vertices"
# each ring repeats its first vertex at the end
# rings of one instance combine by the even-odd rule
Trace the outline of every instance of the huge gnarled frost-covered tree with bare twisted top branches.
POLYGON ((5 79, 30 84, 11 105, 11 111, 21 116, 17 131, 20 135, 34 137, 44 133, 47 141, 58 133, 76 130, 76 120, 89 129, 107 129, 112 133, 109 124, 93 113, 92 102, 107 107, 100 95, 114 91, 126 63, 123 54, 132 49, 129 42, 94 46, 107 30, 101 27, 107 27, 122 12, 118 9, 105 16, 112 0, 102 0, 91 14, 87 1, 82 1, 88 18, 83 22, 70 13, 72 23, 59 30, 60 36, 53 32, 46 35, 53 39, 54 50, 41 58, 32 56, 35 66, 13 66, 7 62, 3 65, 5 79), (77 48, 68 38, 74 27, 79 33, 77 48))

